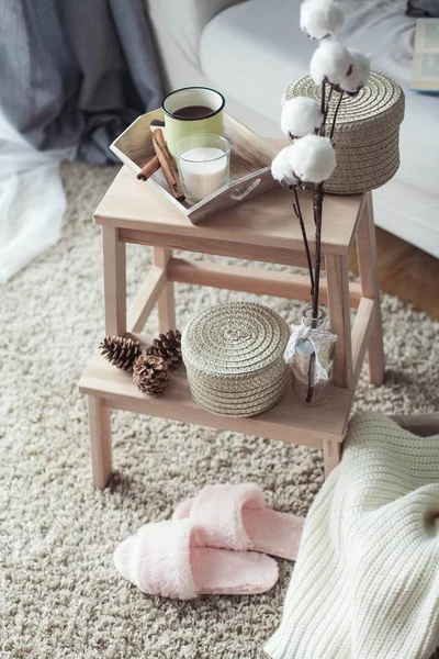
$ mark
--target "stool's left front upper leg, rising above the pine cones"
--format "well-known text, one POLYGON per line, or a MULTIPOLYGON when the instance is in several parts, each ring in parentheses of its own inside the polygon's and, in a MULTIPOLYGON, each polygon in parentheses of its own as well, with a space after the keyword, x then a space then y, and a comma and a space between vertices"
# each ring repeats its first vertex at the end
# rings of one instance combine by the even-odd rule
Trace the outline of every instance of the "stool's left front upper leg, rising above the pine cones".
POLYGON ((103 292, 105 334, 126 333, 126 257, 125 243, 119 241, 119 230, 102 226, 103 292))

